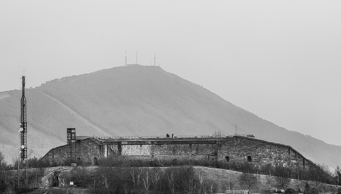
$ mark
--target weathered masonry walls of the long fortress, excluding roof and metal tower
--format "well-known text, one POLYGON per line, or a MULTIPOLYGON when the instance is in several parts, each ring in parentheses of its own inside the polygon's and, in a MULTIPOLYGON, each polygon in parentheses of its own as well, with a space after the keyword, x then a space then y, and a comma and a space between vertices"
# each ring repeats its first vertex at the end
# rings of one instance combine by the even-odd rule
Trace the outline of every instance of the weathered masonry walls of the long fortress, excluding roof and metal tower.
MULTIPOLYGON (((143 140, 143 139, 141 139, 143 140)), ((217 151, 217 155, 208 156, 209 160, 225 161, 225 156, 229 156, 229 162, 247 161, 247 156, 252 157, 254 165, 295 166, 301 165, 309 167, 315 165, 310 160, 304 158, 290 146, 272 143, 266 140, 234 136, 226 138, 226 141, 214 144, 158 144, 147 145, 146 141, 132 141, 140 145, 102 145, 102 142, 94 138, 87 138, 76 142, 76 158, 83 162, 92 162, 94 158, 106 158, 110 155, 124 155, 129 157, 166 157, 168 159, 183 158, 181 156, 202 156, 217 151)), ((196 143, 207 141, 196 141, 196 143)), ((104 142, 105 143, 105 142, 104 142)), ((170 143, 169 141, 166 143, 170 143)), ((184 142, 185 143, 185 142, 184 142)), ((66 145, 51 149, 42 160, 50 164, 60 165, 66 161, 66 145)), ((77 162, 77 161, 76 161, 77 162)))

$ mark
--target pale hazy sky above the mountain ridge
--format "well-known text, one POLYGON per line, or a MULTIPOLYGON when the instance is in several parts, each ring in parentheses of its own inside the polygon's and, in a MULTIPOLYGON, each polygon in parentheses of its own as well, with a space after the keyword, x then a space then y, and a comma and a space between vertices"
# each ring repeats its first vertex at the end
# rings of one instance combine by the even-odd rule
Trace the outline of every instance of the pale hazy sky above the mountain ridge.
POLYGON ((165 71, 341 145, 340 36, 341 1, 0 1, 0 91, 23 71, 36 87, 155 52, 165 71))

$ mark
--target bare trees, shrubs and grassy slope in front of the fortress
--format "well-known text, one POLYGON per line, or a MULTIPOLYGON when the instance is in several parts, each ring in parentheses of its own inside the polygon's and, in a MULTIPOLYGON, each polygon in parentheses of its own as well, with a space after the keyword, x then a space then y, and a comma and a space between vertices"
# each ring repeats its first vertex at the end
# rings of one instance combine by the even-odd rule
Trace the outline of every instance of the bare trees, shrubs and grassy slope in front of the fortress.
POLYGON ((326 165, 316 169, 283 166, 254 166, 251 163, 220 163, 217 161, 132 159, 113 156, 99 159, 98 165, 80 162, 81 166, 63 171, 59 175, 64 189, 37 190, 42 186, 41 178, 48 174, 50 165, 37 158, 29 158, 27 165, 13 159, 4 161, 0 152, 0 193, 79 193, 72 190, 69 181, 77 188, 86 188, 89 193, 216 193, 226 190, 251 190, 269 194, 272 188, 286 189, 296 194, 305 187, 305 194, 336 193, 333 185, 339 185, 340 168, 330 173, 326 165), (193 167, 194 166, 194 167, 193 167), (198 166, 206 166, 198 167, 198 166), (235 171, 218 170, 218 168, 235 171), (214 170, 216 169, 216 170, 214 170), (218 170, 218 171, 217 171, 218 170), (239 172, 237 172, 239 171, 239 172), (235 172, 234 174, 228 172, 235 172), (228 176, 226 176, 228 174, 228 176), (260 176, 260 174, 263 174, 260 176), (295 180, 293 180, 294 178, 295 180), (308 184, 309 182, 309 184, 308 184), (312 185, 308 188, 307 185, 312 185), (289 189, 294 187, 295 189, 289 189))

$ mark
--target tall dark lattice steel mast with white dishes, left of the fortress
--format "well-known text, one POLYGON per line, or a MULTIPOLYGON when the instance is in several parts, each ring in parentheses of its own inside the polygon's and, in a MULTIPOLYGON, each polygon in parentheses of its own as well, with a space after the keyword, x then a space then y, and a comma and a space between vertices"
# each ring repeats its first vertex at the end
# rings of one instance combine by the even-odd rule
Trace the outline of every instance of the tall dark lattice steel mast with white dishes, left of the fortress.
MULTIPOLYGON (((25 73, 25 72, 24 72, 25 73)), ((27 121, 26 121, 26 98, 25 98, 25 74, 22 79, 23 84, 23 95, 21 96, 21 108, 20 108, 20 159, 21 161, 27 160, 27 145, 26 145, 26 134, 27 134, 27 121)))

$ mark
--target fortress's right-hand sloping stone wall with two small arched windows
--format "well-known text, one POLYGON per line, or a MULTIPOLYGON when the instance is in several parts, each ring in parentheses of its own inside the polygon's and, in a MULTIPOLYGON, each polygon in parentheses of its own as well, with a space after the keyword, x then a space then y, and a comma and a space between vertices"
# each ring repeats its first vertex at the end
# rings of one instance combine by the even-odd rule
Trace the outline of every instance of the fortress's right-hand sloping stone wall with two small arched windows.
POLYGON ((225 161, 225 156, 228 156, 229 162, 244 162, 247 161, 248 156, 251 156, 251 161, 255 165, 264 163, 283 166, 302 165, 305 167, 312 165, 288 146, 238 136, 220 144, 217 155, 220 161, 225 161))

